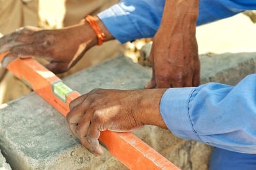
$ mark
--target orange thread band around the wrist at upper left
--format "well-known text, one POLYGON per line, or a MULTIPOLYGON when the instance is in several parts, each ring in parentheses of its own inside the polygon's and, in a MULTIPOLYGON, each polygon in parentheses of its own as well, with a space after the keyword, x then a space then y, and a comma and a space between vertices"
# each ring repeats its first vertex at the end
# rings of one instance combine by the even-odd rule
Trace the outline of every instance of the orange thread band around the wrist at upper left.
POLYGON ((98 45, 102 45, 103 41, 106 38, 106 35, 101 32, 99 24, 96 22, 95 18, 91 15, 86 15, 85 20, 92 26, 93 31, 97 35, 98 45))

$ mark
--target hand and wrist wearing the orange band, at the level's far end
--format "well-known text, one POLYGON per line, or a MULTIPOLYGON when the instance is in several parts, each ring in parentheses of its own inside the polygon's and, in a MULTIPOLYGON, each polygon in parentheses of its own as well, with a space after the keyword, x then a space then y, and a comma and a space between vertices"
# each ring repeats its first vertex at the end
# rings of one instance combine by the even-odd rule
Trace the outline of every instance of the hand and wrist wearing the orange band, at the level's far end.
MULTIPOLYGON (((104 24, 97 20, 106 40, 113 37, 104 24)), ((0 38, 0 53, 10 51, 2 65, 6 67, 16 58, 36 56, 49 61, 46 67, 54 73, 66 72, 84 53, 97 44, 97 36, 85 21, 76 26, 56 30, 24 27, 0 38)))

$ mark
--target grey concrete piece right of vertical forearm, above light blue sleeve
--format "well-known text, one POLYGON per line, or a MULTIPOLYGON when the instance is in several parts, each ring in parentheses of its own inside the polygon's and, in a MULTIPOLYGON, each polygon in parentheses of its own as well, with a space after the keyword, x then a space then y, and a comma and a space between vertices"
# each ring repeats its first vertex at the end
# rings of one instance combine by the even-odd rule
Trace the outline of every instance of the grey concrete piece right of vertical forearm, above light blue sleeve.
POLYGON ((255 52, 205 54, 200 56, 200 61, 201 83, 221 82, 236 85, 256 70, 255 52))

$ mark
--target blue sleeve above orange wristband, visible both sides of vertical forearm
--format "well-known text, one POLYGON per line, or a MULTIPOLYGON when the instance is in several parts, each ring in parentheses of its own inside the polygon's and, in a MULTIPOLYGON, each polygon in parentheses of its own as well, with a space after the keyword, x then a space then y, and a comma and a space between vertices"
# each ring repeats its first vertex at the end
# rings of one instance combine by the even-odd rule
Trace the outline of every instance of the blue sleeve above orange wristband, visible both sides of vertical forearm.
MULTIPOLYGON (((122 0, 98 14, 121 43, 153 37, 161 23, 164 0, 122 0)), ((255 0, 200 0, 197 25, 256 9, 255 0)))

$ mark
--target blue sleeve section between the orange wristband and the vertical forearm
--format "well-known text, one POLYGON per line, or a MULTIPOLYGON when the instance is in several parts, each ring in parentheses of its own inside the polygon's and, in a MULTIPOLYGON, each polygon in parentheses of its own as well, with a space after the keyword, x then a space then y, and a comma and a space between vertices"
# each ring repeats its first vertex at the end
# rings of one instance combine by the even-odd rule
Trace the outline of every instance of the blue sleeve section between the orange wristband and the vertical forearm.
POLYGON ((155 35, 163 14, 164 0, 124 0, 98 14, 121 43, 155 35))

